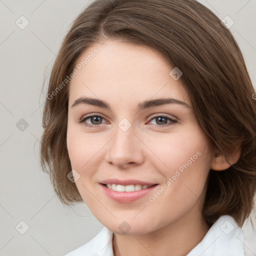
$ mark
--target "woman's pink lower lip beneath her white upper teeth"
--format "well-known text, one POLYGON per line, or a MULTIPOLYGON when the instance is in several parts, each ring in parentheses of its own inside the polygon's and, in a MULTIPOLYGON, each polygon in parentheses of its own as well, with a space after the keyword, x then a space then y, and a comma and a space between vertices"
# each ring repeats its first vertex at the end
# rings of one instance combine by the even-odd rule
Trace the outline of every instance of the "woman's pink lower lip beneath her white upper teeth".
POLYGON ((149 188, 144 188, 138 191, 132 192, 117 192, 114 191, 102 184, 100 184, 105 194, 110 197, 111 199, 121 202, 121 203, 128 203, 133 202, 141 198, 142 196, 150 193, 157 185, 151 186, 149 188))

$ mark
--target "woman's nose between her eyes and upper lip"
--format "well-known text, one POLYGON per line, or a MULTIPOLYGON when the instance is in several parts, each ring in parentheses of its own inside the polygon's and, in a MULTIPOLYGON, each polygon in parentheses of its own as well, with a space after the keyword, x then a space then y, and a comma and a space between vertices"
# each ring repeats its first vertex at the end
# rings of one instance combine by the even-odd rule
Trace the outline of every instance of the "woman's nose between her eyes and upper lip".
POLYGON ((133 125, 124 131, 118 125, 113 137, 107 143, 106 159, 118 168, 127 168, 143 161, 143 143, 134 134, 133 125))

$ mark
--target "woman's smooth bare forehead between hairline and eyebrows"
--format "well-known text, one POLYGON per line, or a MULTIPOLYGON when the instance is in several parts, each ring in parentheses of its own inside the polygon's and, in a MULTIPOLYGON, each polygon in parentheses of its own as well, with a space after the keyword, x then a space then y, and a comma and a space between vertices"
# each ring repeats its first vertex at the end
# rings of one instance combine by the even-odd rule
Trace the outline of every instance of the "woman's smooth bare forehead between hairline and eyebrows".
POLYGON ((145 45, 108 39, 83 51, 75 68, 69 101, 88 95, 108 101, 170 96, 190 102, 180 81, 169 74, 173 67, 159 51, 145 45))

